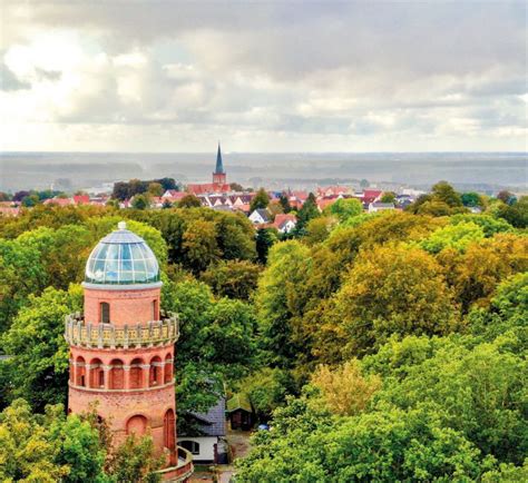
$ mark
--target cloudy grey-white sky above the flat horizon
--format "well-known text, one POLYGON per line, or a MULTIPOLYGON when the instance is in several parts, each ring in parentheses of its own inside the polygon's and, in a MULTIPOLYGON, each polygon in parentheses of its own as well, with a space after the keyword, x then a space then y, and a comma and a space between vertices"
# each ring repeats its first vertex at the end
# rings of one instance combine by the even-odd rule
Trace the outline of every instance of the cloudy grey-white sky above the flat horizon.
POLYGON ((0 0, 0 150, 525 151, 527 3, 0 0))

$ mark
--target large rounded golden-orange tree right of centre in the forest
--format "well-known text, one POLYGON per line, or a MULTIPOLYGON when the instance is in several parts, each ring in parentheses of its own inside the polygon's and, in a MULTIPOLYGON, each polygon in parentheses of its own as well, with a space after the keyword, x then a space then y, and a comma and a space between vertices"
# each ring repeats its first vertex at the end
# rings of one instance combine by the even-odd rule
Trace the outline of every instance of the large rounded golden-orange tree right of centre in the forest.
POLYGON ((441 266, 419 248, 363 250, 329 314, 348 333, 344 353, 361 355, 392 334, 448 334, 456 328, 452 295, 441 266))

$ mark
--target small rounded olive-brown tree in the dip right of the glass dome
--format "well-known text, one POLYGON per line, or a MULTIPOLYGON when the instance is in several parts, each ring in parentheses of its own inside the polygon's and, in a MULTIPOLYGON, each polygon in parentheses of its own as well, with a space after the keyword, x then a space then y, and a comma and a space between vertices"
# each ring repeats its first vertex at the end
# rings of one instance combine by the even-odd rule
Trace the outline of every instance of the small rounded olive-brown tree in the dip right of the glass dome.
POLYGON ((248 300, 262 268, 248 260, 221 260, 205 270, 201 279, 216 296, 248 300))

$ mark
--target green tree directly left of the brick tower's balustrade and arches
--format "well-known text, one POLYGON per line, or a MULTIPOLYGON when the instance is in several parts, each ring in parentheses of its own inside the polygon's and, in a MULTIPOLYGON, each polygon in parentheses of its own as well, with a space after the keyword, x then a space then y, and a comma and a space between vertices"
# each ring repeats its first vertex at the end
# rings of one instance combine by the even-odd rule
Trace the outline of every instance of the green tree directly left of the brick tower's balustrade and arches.
POLYGON ((30 296, 1 339, 11 357, 6 361, 12 401, 26 398, 41 411, 46 404, 63 403, 68 391, 69 348, 63 338, 65 316, 81 309, 81 290, 47 288, 40 297, 30 296))

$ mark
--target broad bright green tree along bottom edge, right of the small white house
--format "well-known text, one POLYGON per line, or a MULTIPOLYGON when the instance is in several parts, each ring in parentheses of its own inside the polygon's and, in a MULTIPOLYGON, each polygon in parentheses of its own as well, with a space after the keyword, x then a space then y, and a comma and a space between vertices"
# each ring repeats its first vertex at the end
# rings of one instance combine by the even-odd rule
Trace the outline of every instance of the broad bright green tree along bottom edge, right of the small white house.
POLYGON ((423 410, 333 418, 300 398, 276 410, 272 426, 237 462, 237 481, 472 481, 481 472, 475 445, 423 410))

